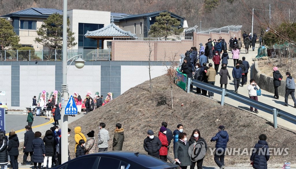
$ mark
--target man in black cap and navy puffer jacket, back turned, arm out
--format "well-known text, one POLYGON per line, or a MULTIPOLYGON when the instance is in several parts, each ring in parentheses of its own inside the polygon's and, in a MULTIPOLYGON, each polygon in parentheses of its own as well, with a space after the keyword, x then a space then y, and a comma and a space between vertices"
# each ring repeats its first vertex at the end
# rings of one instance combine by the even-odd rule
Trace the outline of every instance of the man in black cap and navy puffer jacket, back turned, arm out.
POLYGON ((216 141, 216 150, 214 154, 215 163, 220 167, 220 169, 224 169, 224 156, 225 156, 225 149, 227 147, 227 142, 229 141, 229 135, 227 131, 224 131, 224 125, 220 125, 218 127, 219 132, 216 136, 212 137, 212 141, 216 141))

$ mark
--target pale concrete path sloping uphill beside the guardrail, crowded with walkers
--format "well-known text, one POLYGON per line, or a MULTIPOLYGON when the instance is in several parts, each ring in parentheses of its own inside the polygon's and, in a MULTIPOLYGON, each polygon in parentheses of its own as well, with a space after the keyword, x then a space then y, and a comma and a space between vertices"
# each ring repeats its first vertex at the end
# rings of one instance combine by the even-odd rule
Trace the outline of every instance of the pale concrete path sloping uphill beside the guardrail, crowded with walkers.
MULTIPOLYGON (((239 55, 239 59, 242 60, 242 57, 246 57, 246 61, 248 61, 249 64, 250 64, 250 67, 252 67, 252 65, 254 64, 252 59, 255 58, 256 55, 257 55, 258 45, 259 44, 256 44, 255 51, 252 51, 252 49, 251 50, 249 49, 249 54, 246 54, 245 49, 242 48, 241 53, 239 55)), ((229 54, 229 58, 232 58, 232 54, 231 54, 230 51, 228 51, 228 54, 229 54)), ((221 56, 222 56, 222 54, 221 54, 221 56)), ((210 59, 209 62, 213 63, 213 60, 210 59)), ((213 63, 213 68, 214 68, 214 63, 213 63)), ((221 65, 219 66, 218 73, 220 72, 220 69, 221 69, 221 65)), ((233 82, 233 77, 232 77, 232 69, 233 69, 233 60, 229 59, 228 60, 228 65, 227 65, 227 70, 229 72, 229 75, 231 76, 231 80, 228 80, 227 89, 229 89, 231 91, 234 91, 234 82, 233 82)), ((251 69, 249 69, 247 84, 250 84, 250 78, 251 78, 250 76, 252 74, 251 73, 252 70, 251 71, 250 70, 251 69)), ((273 71, 273 70, 271 69, 271 71, 273 71)), ((284 80, 286 80, 285 77, 284 77, 284 80)), ((215 86, 220 87, 220 75, 219 74, 216 75, 216 77, 215 77, 215 86)), ((244 85, 244 87, 240 86, 238 88, 238 94, 249 97, 249 94, 248 94, 249 91, 247 89, 247 86, 248 85, 244 85)), ((223 85, 223 87, 224 87, 224 85, 223 85)), ((261 86, 259 86, 259 87, 261 88, 261 86)), ((196 90, 196 88, 194 90, 196 90)), ((283 96, 280 96, 279 99, 274 99, 273 96, 274 96, 274 93, 270 93, 268 91, 265 91, 265 90, 261 89, 261 96, 258 96, 258 101, 262 102, 262 103, 265 103, 265 104, 268 104, 268 105, 272 105, 273 107, 279 108, 280 110, 283 110, 285 112, 296 115, 296 111, 295 111, 296 109, 293 108, 293 106, 294 106, 293 103, 294 102, 293 102, 292 99, 289 99, 289 101, 288 101, 289 107, 286 107, 286 106, 283 106, 283 104, 285 103, 285 98, 283 96), (293 106, 291 106, 291 105, 293 105, 293 106)), ((221 101, 221 95, 220 94, 214 94, 214 99, 218 100, 218 101, 221 101)), ((238 108, 243 109, 243 110, 247 110, 248 112, 250 112, 250 107, 249 106, 247 106, 246 104, 242 104, 241 102, 238 102, 236 100, 230 99, 228 97, 225 97, 225 103, 229 104, 231 106, 234 106, 234 107, 238 107, 238 108)), ((261 118, 264 118, 264 119, 270 121, 271 125, 273 125, 273 115, 272 114, 260 111, 259 109, 258 109, 258 111, 259 111, 258 114, 257 113, 252 113, 252 112, 250 112, 250 113, 255 114, 255 115, 257 115, 257 116, 259 116, 261 118)), ((296 129, 295 124, 290 123, 290 122, 288 122, 286 120, 283 120, 283 119, 281 119, 279 117, 277 118, 277 123, 278 123, 278 125, 284 126, 284 127, 289 128, 289 129, 291 129, 293 131, 295 131, 295 129, 296 129)))

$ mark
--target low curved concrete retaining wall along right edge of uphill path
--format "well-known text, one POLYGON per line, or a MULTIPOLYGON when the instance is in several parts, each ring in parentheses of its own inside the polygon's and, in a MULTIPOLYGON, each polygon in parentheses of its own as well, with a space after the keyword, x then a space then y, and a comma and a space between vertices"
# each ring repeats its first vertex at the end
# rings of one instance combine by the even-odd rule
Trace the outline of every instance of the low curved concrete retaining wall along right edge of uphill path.
MULTIPOLYGON (((274 83, 273 83, 274 78, 260 73, 257 62, 258 61, 255 61, 255 64, 253 65, 253 68, 252 68, 252 78, 255 79, 256 83, 260 86, 260 88, 270 93, 274 93, 274 83)), ((282 75, 282 76, 283 76, 283 80, 281 80, 281 86, 278 87, 278 91, 279 91, 279 96, 284 97, 286 93, 286 77, 285 75, 282 75)), ((289 98, 291 98, 291 96, 289 96, 289 98)))

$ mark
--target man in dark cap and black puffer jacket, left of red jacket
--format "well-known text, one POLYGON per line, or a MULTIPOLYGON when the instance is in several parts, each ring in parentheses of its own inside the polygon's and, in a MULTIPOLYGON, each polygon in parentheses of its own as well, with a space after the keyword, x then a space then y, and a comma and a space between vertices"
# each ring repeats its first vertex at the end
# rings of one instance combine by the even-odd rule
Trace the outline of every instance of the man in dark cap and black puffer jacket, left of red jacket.
POLYGON ((152 130, 147 131, 147 137, 146 139, 144 139, 143 147, 144 147, 144 150, 148 153, 148 155, 151 155, 156 158, 160 158, 159 150, 162 147, 162 144, 160 139, 154 136, 154 133, 152 130))

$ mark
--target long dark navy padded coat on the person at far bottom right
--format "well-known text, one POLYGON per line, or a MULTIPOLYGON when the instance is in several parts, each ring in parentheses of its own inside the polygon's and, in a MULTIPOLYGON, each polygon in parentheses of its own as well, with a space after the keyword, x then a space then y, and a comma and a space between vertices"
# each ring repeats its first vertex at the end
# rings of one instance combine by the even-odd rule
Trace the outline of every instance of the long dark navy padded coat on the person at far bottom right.
POLYGON ((256 152, 253 152, 250 160, 254 161, 255 169, 267 169, 267 161, 269 160, 269 147, 266 141, 259 140, 257 144, 255 144, 254 149, 256 152))

